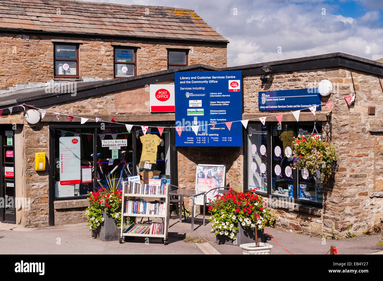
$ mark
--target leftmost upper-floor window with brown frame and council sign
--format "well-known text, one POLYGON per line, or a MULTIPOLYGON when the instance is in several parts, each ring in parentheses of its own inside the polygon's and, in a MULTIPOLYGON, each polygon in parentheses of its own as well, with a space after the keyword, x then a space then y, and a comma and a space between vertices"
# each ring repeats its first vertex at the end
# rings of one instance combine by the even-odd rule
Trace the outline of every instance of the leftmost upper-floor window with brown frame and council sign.
POLYGON ((79 78, 79 45, 54 45, 54 77, 79 78))

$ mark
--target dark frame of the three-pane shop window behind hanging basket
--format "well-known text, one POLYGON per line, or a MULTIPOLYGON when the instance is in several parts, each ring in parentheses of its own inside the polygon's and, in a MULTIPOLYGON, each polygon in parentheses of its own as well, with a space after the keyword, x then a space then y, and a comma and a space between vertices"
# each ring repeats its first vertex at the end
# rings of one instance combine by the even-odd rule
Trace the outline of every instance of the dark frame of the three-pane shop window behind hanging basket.
MULTIPOLYGON (((294 136, 296 137, 298 135, 298 123, 297 122, 284 122, 285 124, 288 125, 293 125, 294 126, 294 136)), ((251 127, 252 124, 256 124, 256 122, 249 122, 247 124, 247 128, 244 129, 243 133, 243 148, 244 148, 244 163, 246 163, 246 166, 244 167, 244 192, 253 192, 257 195, 260 195, 262 197, 272 197, 272 198, 278 198, 285 200, 285 198, 289 198, 287 196, 283 196, 277 193, 273 193, 272 191, 272 177, 268 176, 267 177, 267 192, 258 192, 258 191, 250 191, 249 190, 249 138, 248 138, 248 128, 251 127), (246 188, 246 189, 245 189, 246 188)), ((278 124, 278 122, 265 122, 265 125, 267 125, 267 155, 272 155, 272 125, 278 124)), ((300 122, 300 125, 312 125, 313 122, 300 122)), ((322 127, 322 123, 319 122, 319 125, 322 127)), ((318 123, 317 123, 318 126, 318 123)), ((267 161, 267 172, 272 173, 272 161, 267 161)), ((316 208, 322 208, 324 201, 322 203, 320 202, 315 202, 315 201, 309 201, 309 200, 301 200, 299 199, 298 195, 298 187, 299 187, 299 177, 298 177, 298 172, 300 170, 298 169, 293 169, 293 186, 294 186, 294 191, 293 191, 293 198, 294 202, 297 205, 304 205, 304 206, 310 206, 310 207, 316 207, 316 208)), ((271 175, 271 174, 270 174, 271 175)), ((291 197, 290 197, 291 198, 291 197)))

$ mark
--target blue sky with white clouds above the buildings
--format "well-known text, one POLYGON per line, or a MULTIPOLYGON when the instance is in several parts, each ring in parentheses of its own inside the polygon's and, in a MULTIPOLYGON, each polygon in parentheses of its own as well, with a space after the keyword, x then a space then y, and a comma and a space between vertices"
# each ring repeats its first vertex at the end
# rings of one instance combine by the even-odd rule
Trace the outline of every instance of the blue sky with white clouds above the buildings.
POLYGON ((93 0, 193 9, 228 39, 228 67, 334 52, 383 58, 383 0, 93 0))

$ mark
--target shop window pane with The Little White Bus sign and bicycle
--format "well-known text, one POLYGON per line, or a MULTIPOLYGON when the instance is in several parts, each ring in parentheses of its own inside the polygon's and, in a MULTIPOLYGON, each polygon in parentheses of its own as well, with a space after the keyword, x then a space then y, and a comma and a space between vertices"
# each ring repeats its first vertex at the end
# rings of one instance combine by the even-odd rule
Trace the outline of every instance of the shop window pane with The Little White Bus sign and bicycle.
POLYGON ((97 190, 122 189, 122 181, 133 176, 133 133, 125 128, 97 131, 97 190), (103 146, 104 140, 104 146, 103 146), (108 144, 106 144, 109 141, 108 144), (115 146, 115 143, 122 145, 115 146), (106 145, 106 146, 105 146, 106 145))

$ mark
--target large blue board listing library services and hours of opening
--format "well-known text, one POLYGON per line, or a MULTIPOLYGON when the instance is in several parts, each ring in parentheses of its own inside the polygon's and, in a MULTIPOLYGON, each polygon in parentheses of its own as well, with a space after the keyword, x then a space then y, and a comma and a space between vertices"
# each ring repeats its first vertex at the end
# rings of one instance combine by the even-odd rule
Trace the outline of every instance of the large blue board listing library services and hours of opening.
POLYGON ((175 145, 242 146, 242 123, 232 122, 242 120, 241 80, 241 71, 174 73, 175 126, 183 127, 175 145))

